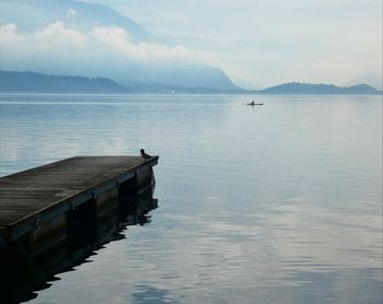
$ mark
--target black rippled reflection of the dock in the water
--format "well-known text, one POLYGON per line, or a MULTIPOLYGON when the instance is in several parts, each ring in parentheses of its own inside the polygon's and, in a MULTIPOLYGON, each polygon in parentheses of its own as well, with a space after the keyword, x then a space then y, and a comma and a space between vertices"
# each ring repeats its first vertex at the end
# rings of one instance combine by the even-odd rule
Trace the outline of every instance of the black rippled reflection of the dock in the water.
POLYGON ((74 267, 89 262, 88 258, 109 242, 125 238, 128 225, 146 225, 151 222, 150 211, 158 208, 158 199, 152 194, 140 196, 128 209, 114 209, 97 222, 97 233, 93 242, 83 244, 60 244, 48 253, 27 257, 21 248, 9 248, 0 253, 1 303, 20 303, 37 296, 37 291, 50 287, 60 272, 72 271, 74 267), (131 208, 132 207, 132 208, 131 208))

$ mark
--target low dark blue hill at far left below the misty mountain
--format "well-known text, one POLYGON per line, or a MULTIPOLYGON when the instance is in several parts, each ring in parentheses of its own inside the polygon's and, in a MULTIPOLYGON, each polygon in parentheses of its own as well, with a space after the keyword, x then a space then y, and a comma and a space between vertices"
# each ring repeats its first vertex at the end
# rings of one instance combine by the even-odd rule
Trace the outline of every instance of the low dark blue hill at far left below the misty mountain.
POLYGON ((107 78, 0 71, 0 92, 117 93, 127 89, 107 78))

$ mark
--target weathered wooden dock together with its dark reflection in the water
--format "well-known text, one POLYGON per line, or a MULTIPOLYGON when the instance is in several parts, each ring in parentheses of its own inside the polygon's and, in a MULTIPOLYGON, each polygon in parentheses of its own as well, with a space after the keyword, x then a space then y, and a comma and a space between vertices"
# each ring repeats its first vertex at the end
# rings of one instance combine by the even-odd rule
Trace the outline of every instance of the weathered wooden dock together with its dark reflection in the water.
POLYGON ((158 156, 71 157, 0 178, 0 303, 33 299, 127 225, 149 223, 158 156))

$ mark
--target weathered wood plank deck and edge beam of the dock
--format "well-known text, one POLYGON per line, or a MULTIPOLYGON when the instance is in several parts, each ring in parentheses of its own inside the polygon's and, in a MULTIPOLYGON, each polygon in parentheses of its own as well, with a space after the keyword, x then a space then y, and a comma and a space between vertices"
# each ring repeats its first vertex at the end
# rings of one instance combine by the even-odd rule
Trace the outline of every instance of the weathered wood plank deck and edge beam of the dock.
POLYGON ((0 178, 0 244, 148 172, 158 156, 77 156, 0 178))

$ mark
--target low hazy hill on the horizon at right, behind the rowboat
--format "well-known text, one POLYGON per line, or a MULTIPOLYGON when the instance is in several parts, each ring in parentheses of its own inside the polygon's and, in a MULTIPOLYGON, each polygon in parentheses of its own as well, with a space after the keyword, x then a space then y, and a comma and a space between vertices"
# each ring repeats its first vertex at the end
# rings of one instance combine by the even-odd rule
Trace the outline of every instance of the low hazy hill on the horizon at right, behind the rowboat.
POLYGON ((358 84, 352 86, 336 86, 334 84, 311 84, 290 82, 280 85, 254 91, 256 94, 307 94, 307 95, 379 95, 381 91, 368 84, 358 84))

